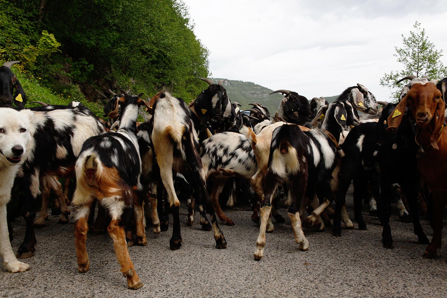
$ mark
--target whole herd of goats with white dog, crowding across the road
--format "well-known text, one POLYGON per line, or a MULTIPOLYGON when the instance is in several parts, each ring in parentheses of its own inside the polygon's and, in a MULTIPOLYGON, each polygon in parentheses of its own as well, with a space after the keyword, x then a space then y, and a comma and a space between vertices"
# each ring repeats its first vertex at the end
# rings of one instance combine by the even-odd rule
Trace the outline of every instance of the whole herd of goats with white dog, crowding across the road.
POLYGON ((219 197, 232 205, 235 187, 239 198, 250 200, 252 219, 260 223, 256 260, 263 256, 266 232, 273 231, 271 218, 284 221, 277 210, 282 196, 303 251, 309 242, 302 225, 324 230, 325 224, 332 224, 335 236, 341 236, 341 222, 354 228, 345 208, 351 182, 358 228, 366 229, 362 204, 369 200, 383 226, 385 248, 393 248, 390 200, 396 197, 401 215, 411 216, 419 243, 428 244, 424 257, 435 257, 441 246, 447 198, 447 164, 442 162, 447 160, 447 78, 407 76, 401 81, 409 84, 395 104, 377 102, 361 84, 346 88, 331 104, 323 97, 309 103, 296 92, 277 90, 284 98, 273 117, 257 102, 241 111, 229 100, 223 80, 215 84, 201 78, 209 87, 189 105, 166 90, 149 102, 141 99, 143 93, 110 91, 105 122, 78 102, 25 108, 25 91, 11 71, 17 62, 0 67, 0 254, 10 272, 29 269, 17 260, 9 241, 6 204, 11 196, 26 222, 18 255, 30 257, 36 244, 34 226, 42 226, 48 215, 51 189, 60 208, 59 222, 68 222, 71 180, 76 181, 71 206, 79 272, 89 270, 85 243, 97 203, 94 227, 106 226, 131 289, 143 284, 127 247, 134 241, 147 244, 146 213, 155 233, 168 230, 172 213, 169 244, 179 249, 179 197, 188 202, 188 226, 193 225, 197 200, 202 229, 214 232, 216 248, 226 248, 218 221, 234 223, 224 214, 219 197), (150 116, 138 123, 141 106, 150 116), (34 221, 40 197, 42 210, 34 221), (150 211, 145 208, 149 202, 150 211), (431 243, 419 222, 421 206, 428 206, 431 214, 431 243))

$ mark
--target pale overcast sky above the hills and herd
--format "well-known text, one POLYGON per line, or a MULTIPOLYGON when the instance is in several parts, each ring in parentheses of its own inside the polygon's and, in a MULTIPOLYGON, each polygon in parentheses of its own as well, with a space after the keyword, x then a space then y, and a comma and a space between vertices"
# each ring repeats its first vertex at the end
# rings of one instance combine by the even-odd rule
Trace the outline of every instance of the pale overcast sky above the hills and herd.
MULTIPOLYGON (((447 65, 447 5, 442 1, 185 0, 194 33, 210 51, 212 77, 333 96, 357 83, 377 100, 390 91, 384 73, 401 70, 402 46, 415 21, 447 65)), ((228 94, 231 98, 231 94, 228 94)))

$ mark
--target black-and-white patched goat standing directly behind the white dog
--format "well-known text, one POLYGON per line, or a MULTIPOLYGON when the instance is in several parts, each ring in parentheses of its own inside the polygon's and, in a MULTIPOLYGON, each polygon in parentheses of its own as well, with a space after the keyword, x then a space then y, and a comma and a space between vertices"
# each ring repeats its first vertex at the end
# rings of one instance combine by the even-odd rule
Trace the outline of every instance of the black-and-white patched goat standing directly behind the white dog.
POLYGON ((82 143, 90 136, 105 132, 102 122, 87 108, 48 105, 30 110, 35 115, 31 122, 34 131, 32 154, 16 179, 21 189, 21 214, 26 222, 25 239, 19 247, 21 258, 30 257, 35 251, 33 221, 41 178, 70 174, 82 143))

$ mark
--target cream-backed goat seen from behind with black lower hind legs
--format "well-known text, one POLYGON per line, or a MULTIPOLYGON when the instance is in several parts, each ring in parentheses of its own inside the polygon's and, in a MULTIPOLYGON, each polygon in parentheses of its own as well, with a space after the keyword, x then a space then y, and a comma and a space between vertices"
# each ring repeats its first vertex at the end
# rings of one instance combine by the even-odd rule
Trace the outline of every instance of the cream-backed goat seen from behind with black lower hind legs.
MULTIPOLYGON (((216 88, 219 88, 221 85, 216 86, 216 88)), ((210 85, 210 87, 214 86, 210 85)), ((216 93, 216 96, 219 92, 216 93)), ((161 180, 168 195, 169 206, 173 212, 174 220, 173 235, 169 240, 170 248, 179 249, 181 247, 180 201, 178 201, 173 186, 173 170, 181 172, 184 168, 191 172, 188 177, 190 178, 190 185, 194 188, 195 196, 199 201, 202 228, 211 230, 205 214, 205 208, 203 208, 205 203, 207 213, 211 216, 216 248, 226 248, 227 242, 222 231, 220 231, 215 218, 214 207, 207 193, 205 173, 203 172, 202 161, 198 154, 198 136, 196 130, 194 130, 193 122, 191 122, 189 110, 181 98, 173 97, 167 91, 159 92, 153 99, 155 103, 153 105, 151 139, 158 166, 160 167, 161 180)), ((207 113, 208 111, 205 111, 203 115, 207 113)))

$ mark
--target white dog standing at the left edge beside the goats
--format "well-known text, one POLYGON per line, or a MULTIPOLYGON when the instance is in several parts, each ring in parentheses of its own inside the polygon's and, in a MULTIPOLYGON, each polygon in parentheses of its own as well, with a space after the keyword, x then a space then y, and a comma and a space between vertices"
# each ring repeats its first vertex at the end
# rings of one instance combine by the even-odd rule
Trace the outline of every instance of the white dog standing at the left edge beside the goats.
POLYGON ((22 272, 30 265, 19 262, 11 248, 6 204, 11 199, 14 178, 21 164, 32 154, 34 113, 30 110, 17 111, 0 108, 0 256, 10 272, 22 272))

